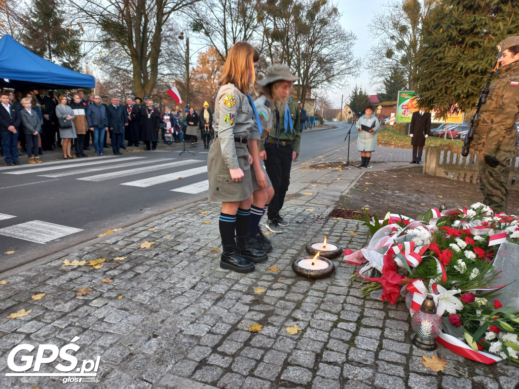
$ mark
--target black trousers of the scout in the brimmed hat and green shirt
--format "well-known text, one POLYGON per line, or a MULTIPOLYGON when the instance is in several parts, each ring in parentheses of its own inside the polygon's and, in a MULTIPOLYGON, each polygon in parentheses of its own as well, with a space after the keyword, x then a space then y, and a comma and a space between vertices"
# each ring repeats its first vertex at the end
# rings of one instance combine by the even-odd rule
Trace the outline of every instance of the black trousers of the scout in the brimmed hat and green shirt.
POLYGON ((267 159, 265 169, 272 182, 274 197, 268 206, 268 218, 275 219, 283 207, 286 191, 290 185, 290 168, 292 166, 292 145, 281 146, 273 143, 265 144, 267 159))

